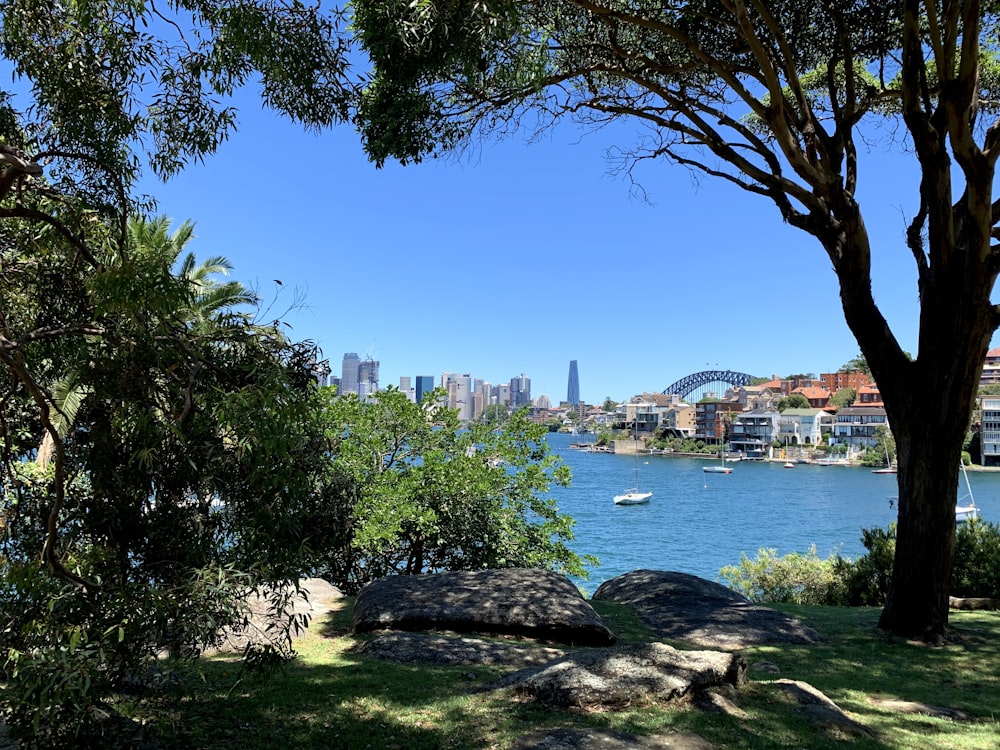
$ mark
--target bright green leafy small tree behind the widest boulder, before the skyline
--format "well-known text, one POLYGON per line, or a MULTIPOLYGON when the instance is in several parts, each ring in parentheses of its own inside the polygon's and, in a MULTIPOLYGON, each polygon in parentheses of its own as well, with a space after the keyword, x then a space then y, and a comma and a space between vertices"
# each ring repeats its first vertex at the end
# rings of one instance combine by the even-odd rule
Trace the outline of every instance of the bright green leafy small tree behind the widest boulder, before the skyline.
POLYGON ((499 425, 463 426, 443 396, 439 389, 415 404, 389 389, 331 400, 325 422, 341 510, 324 574, 348 591, 443 570, 583 575, 566 545, 573 521, 548 494, 569 483, 569 468, 549 452, 544 426, 523 410, 499 425))

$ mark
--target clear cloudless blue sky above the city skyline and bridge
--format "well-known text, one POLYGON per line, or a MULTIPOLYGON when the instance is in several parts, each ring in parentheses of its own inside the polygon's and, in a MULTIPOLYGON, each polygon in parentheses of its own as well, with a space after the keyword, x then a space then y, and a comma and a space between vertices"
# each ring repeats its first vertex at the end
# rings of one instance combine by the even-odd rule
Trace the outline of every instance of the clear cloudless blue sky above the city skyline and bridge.
MULTIPOLYGON (((773 205, 666 162, 612 175, 606 152, 636 126, 567 123, 484 142, 456 160, 377 170, 350 127, 307 134, 241 100, 239 132, 203 165, 147 183, 159 211, 196 224, 199 258, 222 254, 294 339, 339 373, 344 352, 401 375, 524 373, 532 395, 623 400, 703 369, 831 372, 858 353, 819 244, 773 205), (282 282, 281 286, 274 280, 282 282)), ((863 154, 876 299, 916 354, 917 292, 903 243, 912 157, 863 154)))

